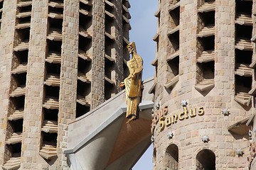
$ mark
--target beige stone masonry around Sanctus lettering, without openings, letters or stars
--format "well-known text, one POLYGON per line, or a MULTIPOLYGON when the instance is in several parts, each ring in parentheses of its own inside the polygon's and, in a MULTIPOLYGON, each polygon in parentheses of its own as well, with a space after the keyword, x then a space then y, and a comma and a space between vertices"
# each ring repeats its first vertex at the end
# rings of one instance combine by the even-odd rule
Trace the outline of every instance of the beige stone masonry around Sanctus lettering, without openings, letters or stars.
MULTIPOLYGON (((196 54, 198 30, 198 0, 180 1, 179 25, 179 77, 175 85, 169 84, 170 72, 166 60, 172 54, 167 34, 171 31, 169 9, 170 1, 161 1, 159 52, 155 103, 160 108, 169 106, 169 117, 183 112, 181 101, 188 101, 188 109, 203 107, 204 115, 178 120, 177 123, 159 129, 159 123, 154 130, 154 148, 156 158, 155 169, 165 169, 164 158, 166 148, 175 144, 178 146, 178 169, 196 169, 196 155, 202 149, 210 149, 216 156, 216 169, 247 169, 249 142, 247 137, 241 137, 228 132, 228 127, 255 113, 254 100, 249 106, 242 105, 235 98, 235 1, 215 1, 215 56, 214 87, 208 91, 195 89, 203 79, 198 68, 196 54), (230 115, 223 115, 228 108, 230 115), (168 132, 174 132, 169 139, 168 132), (203 142, 201 137, 208 135, 209 142, 203 142), (244 154, 238 157, 237 149, 244 154)), ((255 47, 254 47, 255 48, 255 47)), ((255 72, 255 71, 253 71, 255 72)), ((254 75, 254 74, 253 74, 254 75)), ((252 77, 252 81, 255 79, 252 77)))

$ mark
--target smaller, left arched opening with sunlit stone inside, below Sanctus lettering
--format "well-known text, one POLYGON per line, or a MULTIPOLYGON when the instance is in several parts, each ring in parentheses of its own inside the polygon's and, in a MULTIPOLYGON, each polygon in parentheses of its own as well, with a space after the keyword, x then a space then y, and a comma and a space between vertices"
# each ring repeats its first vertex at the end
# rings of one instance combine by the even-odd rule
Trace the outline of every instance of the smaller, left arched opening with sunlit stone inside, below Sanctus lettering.
POLYGON ((165 170, 178 170, 178 147, 177 145, 169 145, 164 156, 165 170))

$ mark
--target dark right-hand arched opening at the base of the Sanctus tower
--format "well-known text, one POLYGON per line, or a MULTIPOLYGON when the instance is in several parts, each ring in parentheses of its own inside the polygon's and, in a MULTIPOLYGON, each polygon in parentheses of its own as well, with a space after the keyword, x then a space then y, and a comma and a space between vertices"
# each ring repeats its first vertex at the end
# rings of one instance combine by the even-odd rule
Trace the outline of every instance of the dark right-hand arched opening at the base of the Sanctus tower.
POLYGON ((203 149, 196 155, 196 170, 215 170, 215 154, 203 149))

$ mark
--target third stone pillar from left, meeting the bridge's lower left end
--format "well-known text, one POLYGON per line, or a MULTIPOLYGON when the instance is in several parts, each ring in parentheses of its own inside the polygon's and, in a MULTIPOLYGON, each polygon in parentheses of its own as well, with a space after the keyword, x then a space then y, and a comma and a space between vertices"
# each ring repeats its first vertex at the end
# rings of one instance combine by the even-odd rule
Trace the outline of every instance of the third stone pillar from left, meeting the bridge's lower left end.
POLYGON ((65 1, 63 18, 63 50, 60 70, 60 108, 58 113, 58 167, 68 169, 63 154, 67 148, 68 120, 75 118, 78 77, 79 1, 65 1))

